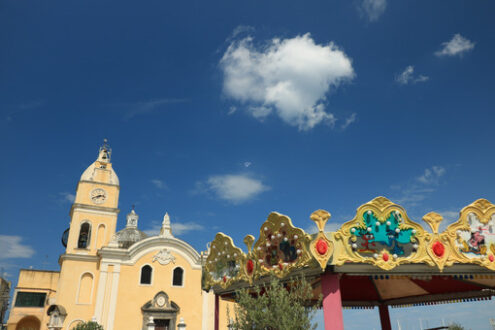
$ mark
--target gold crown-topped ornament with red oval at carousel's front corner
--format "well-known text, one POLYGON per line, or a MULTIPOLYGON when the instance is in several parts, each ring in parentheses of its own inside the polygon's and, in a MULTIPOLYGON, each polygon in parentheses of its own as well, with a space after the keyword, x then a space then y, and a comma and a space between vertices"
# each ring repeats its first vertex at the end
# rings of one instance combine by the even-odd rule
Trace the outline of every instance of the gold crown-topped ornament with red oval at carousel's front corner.
POLYGON ((325 210, 317 210, 309 217, 318 227, 318 233, 309 244, 310 251, 323 271, 327 267, 328 260, 332 256, 334 249, 333 242, 325 235, 325 225, 330 217, 330 213, 325 210))

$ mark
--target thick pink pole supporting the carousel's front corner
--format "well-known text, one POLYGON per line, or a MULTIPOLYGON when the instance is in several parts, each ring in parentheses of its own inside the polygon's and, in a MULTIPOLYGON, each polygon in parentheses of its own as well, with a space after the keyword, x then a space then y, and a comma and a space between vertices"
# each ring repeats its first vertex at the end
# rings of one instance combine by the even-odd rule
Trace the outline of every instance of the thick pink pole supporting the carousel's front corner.
POLYGON ((335 273, 321 275, 321 292, 325 330, 344 330, 339 275, 335 273))

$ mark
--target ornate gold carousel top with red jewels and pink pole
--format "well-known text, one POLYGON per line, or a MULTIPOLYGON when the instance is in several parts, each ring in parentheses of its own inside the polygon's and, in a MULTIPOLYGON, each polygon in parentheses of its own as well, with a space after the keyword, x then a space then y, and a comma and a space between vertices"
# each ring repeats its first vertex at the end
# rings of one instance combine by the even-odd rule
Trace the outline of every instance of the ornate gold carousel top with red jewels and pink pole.
POLYGON ((235 301, 239 289, 276 276, 304 276, 320 301, 325 329, 343 329, 342 308, 378 307, 382 329, 391 329, 389 307, 489 300, 495 295, 495 205, 479 199, 439 232, 442 216, 423 217, 431 231, 411 220, 385 197, 361 205, 335 232, 325 232, 330 213, 310 215, 317 227, 308 234, 288 216, 273 212, 257 240, 244 238, 247 253, 218 233, 203 266, 203 289, 235 301))

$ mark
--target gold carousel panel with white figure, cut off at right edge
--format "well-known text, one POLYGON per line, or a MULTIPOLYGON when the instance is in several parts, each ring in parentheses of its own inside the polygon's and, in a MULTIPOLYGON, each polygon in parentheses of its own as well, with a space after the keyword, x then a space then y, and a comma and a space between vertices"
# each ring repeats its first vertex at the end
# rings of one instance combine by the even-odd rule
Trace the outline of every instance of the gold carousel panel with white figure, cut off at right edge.
POLYGON ((446 233, 454 247, 452 262, 495 270, 495 205, 478 199, 461 210, 459 220, 448 226, 446 233))

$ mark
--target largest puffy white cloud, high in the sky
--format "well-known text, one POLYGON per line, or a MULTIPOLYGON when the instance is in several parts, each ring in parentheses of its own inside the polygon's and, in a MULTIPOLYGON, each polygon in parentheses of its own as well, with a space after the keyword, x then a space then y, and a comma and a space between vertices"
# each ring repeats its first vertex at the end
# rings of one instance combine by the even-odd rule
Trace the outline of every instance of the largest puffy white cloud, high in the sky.
POLYGON ((272 113, 299 130, 335 117, 326 112, 326 95, 354 77, 350 58, 334 43, 318 45, 307 33, 272 39, 255 47, 253 38, 232 41, 220 60, 226 96, 246 104, 253 117, 272 113))

